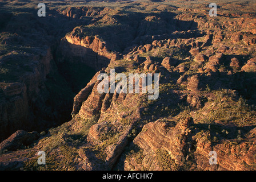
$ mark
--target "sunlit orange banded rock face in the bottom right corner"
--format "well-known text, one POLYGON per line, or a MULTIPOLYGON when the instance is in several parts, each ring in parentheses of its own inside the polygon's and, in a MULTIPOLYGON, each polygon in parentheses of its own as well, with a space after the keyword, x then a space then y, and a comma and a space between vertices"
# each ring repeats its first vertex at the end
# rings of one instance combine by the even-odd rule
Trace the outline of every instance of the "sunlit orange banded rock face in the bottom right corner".
MULTIPOLYGON (((251 131, 249 137, 254 136, 255 131, 251 131)), ((209 134, 206 134, 209 135, 209 134)), ((255 170, 255 137, 248 142, 241 142, 238 145, 229 141, 214 145, 205 140, 206 135, 197 138, 197 148, 194 152, 197 167, 203 170, 219 171, 247 171, 255 170), (217 164, 210 165, 210 151, 217 152, 217 164)))

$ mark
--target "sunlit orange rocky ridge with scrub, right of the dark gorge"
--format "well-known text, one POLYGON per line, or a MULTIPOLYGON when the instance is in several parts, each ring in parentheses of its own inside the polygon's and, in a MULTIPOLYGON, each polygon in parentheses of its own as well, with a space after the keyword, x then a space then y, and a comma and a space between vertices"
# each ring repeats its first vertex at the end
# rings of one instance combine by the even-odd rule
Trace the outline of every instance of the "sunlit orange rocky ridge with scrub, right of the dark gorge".
MULTIPOLYGON (((105 17, 102 10, 110 11, 94 10, 62 13, 105 17)), ((17 131, 3 141, 1 169, 45 169, 35 165, 34 156, 43 150, 51 154, 47 167, 53 170, 255 170, 256 55, 255 32, 249 28, 254 15, 222 14, 221 23, 207 12, 201 17, 179 10, 173 21, 190 22, 193 30, 136 36, 132 43, 137 44, 120 53, 110 51, 111 42, 98 36, 81 36, 84 27, 67 34, 58 61, 82 61, 97 73, 74 97, 71 121, 38 139, 17 131), (125 74, 159 73, 158 100, 142 93, 99 93, 97 76, 110 75, 111 68, 125 74), (31 137, 23 142, 28 148, 15 137, 19 133, 31 137), (15 143, 18 147, 12 148, 15 143), (218 164, 209 164, 210 151, 217 152, 218 164)), ((22 84, 1 88, 6 96, 27 90, 22 84)))

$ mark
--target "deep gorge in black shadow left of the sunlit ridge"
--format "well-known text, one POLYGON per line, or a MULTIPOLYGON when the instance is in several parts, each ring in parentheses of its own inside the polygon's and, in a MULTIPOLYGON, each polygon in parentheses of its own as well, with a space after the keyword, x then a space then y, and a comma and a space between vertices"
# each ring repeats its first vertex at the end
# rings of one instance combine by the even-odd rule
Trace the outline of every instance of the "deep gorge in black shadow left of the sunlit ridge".
MULTIPOLYGON (((14 118, 1 119, 2 122, 7 123, 6 128, 1 128, 4 129, 1 132, 1 141, 17 130, 36 130, 40 133, 50 127, 56 127, 63 122, 70 121, 73 98, 91 80, 95 70, 85 63, 79 63, 79 61, 71 63, 68 59, 64 59, 62 62, 58 62, 56 61, 58 56, 54 52, 53 55, 53 59, 48 61, 50 65, 46 65, 51 69, 45 75, 45 78, 41 80, 41 76, 38 75, 37 78, 34 78, 35 80, 33 79, 34 81, 28 82, 28 80, 25 80, 21 89, 24 86, 27 89, 23 89, 22 95, 18 93, 19 95, 15 96, 14 93, 18 101, 5 99, 5 103, 9 102, 8 105, 5 104, 5 107, 9 108, 8 115, 9 117, 13 115, 14 118), (15 103, 19 103, 20 106, 15 103), (15 105, 14 110, 10 109, 10 107, 13 107, 12 105, 15 105), (19 107, 23 108, 21 114, 17 113, 19 107), (13 114, 10 112, 13 112, 13 114)), ((39 74, 42 73, 39 72, 39 74)), ((34 76, 32 75, 30 78, 32 77, 34 76)), ((5 109, 2 109, 2 111, 5 111, 5 109)))

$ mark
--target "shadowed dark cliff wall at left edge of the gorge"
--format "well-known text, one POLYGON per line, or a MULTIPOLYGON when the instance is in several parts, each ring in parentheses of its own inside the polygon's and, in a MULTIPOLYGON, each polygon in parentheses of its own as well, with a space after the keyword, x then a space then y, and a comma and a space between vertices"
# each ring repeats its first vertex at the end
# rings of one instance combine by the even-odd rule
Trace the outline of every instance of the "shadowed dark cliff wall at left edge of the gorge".
MULTIPOLYGON (((5 60, 9 59, 20 58, 15 55, 2 57, 1 63, 5 64, 5 60)), ((26 59, 30 59, 31 63, 27 65, 26 73, 17 76, 18 82, 1 83, 1 139, 18 128, 31 129, 37 125, 34 123, 31 106, 37 105, 37 101, 45 97, 38 95, 43 93, 42 88, 45 86, 46 75, 50 73, 53 57, 49 48, 41 57, 29 56, 26 59)))

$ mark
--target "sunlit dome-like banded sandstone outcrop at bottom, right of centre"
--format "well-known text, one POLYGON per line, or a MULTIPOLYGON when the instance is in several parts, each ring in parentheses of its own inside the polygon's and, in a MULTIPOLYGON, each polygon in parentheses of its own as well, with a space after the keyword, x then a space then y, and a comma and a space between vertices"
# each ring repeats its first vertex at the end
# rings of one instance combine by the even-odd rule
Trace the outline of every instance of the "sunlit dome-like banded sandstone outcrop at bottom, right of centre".
POLYGON ((166 168, 174 169, 174 167, 183 166, 185 158, 188 155, 189 136, 191 134, 190 125, 193 124, 193 118, 186 118, 184 121, 164 122, 155 121, 145 125, 134 139, 134 144, 137 144, 142 150, 143 159, 137 164, 134 156, 126 158, 125 169, 135 170, 164 170, 166 168), (169 162, 173 161, 171 166, 162 166, 158 155, 162 151, 166 151, 169 155, 169 162))

